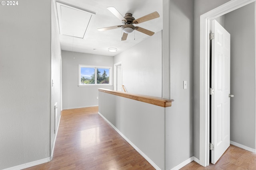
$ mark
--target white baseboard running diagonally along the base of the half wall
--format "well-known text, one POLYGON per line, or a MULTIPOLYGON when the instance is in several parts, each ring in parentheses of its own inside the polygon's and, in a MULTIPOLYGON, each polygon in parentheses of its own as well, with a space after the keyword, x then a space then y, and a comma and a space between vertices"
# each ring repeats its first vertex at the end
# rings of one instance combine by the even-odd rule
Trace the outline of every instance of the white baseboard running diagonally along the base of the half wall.
POLYGON ((134 145, 122 132, 120 132, 108 119, 106 119, 100 112, 98 114, 117 132, 119 135, 121 135, 141 156, 143 156, 156 170, 161 170, 146 154, 144 154, 136 145, 134 145))

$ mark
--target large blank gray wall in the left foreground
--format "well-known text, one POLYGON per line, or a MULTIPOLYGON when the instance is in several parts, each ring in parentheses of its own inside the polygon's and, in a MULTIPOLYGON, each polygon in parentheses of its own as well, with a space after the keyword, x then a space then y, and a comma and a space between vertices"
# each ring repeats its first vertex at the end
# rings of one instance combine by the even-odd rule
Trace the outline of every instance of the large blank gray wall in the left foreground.
POLYGON ((0 169, 50 156, 51 0, 0 7, 0 169))

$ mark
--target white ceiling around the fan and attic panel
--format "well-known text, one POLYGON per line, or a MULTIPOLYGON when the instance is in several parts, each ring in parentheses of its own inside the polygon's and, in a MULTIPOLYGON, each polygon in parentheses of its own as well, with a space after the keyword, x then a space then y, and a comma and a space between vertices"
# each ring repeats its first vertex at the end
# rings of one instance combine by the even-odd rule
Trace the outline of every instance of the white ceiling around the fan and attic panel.
MULTIPOLYGON (((155 33, 162 30, 162 0, 61 0, 58 2, 95 13, 95 15, 92 15, 84 38, 60 35, 62 50, 114 56, 149 37, 149 35, 135 31, 135 34, 132 32, 128 35, 126 41, 121 41, 121 28, 98 31, 97 28, 123 25, 122 21, 116 18, 116 16, 106 8, 108 6, 114 6, 123 16, 126 13, 131 13, 135 19, 157 11, 160 14, 160 18, 146 21, 136 26, 143 27, 155 33), (116 53, 108 52, 108 48, 110 47, 117 48, 118 51, 116 53)), ((54 8, 57 25, 59 27, 55 0, 54 8)), ((80 20, 81 17, 76 17, 72 23, 79 23, 80 20)), ((61 25, 61 27, 72 29, 73 25, 61 25)), ((75 34, 76 33, 73 35, 75 34)))

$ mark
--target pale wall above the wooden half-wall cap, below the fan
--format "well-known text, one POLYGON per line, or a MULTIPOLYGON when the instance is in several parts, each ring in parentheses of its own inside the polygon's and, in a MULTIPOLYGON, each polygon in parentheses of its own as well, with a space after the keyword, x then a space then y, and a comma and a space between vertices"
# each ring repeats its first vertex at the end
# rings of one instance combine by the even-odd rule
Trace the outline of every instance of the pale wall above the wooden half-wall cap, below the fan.
POLYGON ((127 92, 162 97, 162 31, 116 55, 127 92))

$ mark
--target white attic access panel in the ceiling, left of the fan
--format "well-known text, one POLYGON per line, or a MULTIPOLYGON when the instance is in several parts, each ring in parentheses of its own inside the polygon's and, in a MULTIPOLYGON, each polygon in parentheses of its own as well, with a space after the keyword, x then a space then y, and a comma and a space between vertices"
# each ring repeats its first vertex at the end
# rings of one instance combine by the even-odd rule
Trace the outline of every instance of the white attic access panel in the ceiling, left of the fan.
POLYGON ((56 2, 60 35, 84 38, 95 13, 56 2))

